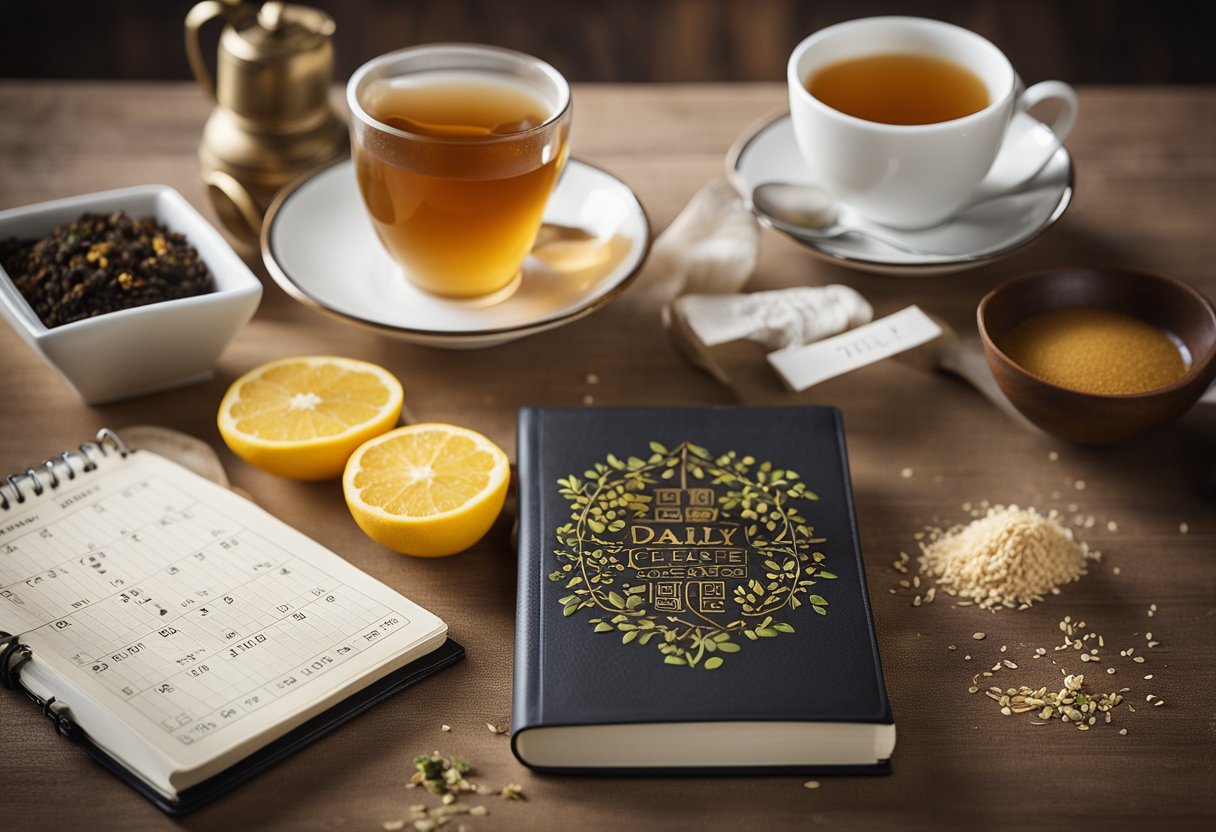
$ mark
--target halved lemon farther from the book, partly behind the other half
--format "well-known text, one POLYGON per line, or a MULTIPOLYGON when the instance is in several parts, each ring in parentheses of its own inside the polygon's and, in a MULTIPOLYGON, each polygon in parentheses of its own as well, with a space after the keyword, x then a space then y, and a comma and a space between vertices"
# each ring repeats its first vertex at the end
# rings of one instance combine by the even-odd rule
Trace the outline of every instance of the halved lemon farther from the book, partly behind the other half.
POLYGON ((254 367, 229 388, 216 422, 232 452, 291 479, 330 479, 401 416, 401 382, 384 367, 300 355, 254 367))

